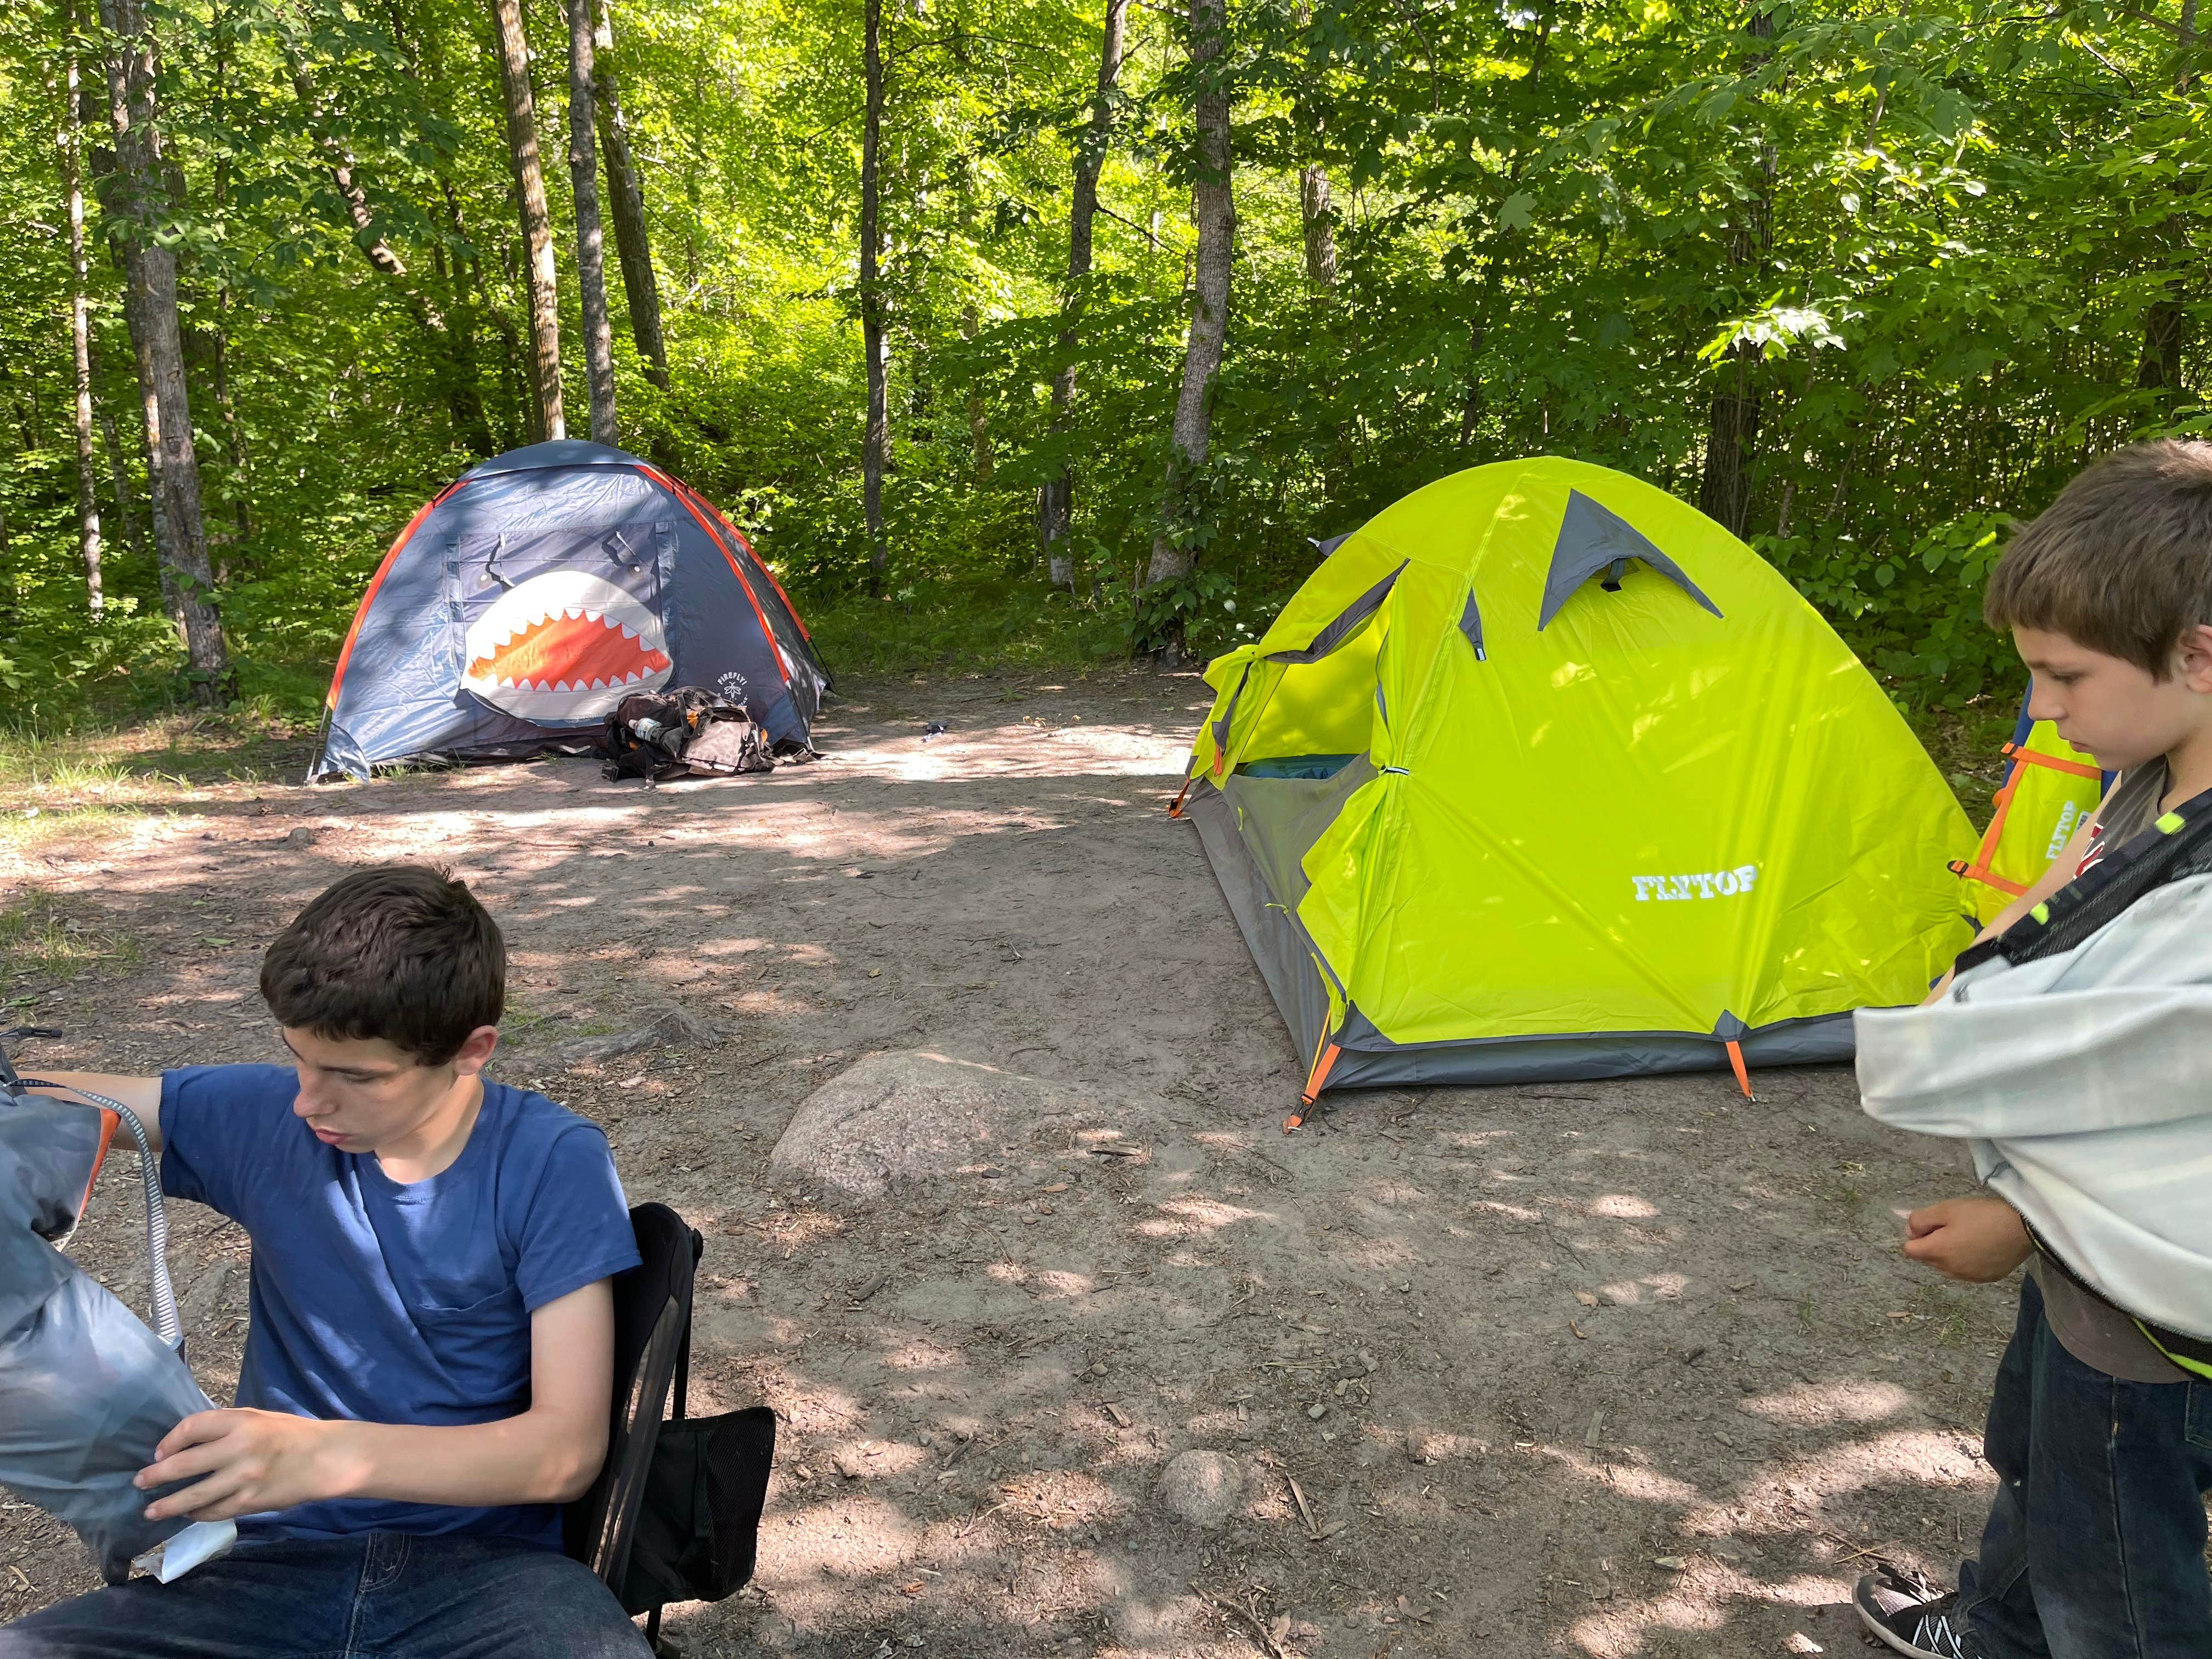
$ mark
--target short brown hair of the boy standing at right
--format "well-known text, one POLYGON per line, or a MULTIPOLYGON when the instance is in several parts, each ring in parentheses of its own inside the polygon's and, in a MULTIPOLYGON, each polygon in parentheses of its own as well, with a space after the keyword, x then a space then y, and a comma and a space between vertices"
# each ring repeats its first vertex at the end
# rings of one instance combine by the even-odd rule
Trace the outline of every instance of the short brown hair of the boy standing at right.
POLYGON ((2154 679, 2212 622, 2212 442, 2115 449, 2075 478, 1989 577, 1991 628, 2044 628, 2154 679))

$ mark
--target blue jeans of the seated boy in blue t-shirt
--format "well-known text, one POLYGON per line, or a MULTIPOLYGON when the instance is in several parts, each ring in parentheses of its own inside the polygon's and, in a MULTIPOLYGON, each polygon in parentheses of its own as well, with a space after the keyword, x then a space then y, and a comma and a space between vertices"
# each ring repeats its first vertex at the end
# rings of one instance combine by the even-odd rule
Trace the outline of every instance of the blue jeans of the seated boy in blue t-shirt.
POLYGON ((0 1628, 0 1659, 646 1659, 615 1593, 504 1537, 241 1542, 0 1628))

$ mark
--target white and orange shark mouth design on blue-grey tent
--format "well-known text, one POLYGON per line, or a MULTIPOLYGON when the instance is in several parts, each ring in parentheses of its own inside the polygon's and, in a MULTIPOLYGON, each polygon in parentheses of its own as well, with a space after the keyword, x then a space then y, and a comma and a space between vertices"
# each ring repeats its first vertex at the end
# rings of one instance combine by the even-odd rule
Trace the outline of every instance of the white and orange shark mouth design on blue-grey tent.
POLYGON ((469 624, 462 686, 529 721, 584 721, 668 684, 661 619, 613 582, 551 571, 469 624))

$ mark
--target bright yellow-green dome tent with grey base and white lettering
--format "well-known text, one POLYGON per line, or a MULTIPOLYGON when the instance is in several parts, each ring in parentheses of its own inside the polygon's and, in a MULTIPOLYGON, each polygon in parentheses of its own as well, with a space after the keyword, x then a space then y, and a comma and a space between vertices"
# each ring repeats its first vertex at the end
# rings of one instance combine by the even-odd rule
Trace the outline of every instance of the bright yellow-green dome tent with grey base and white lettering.
POLYGON ((1307 1104, 1845 1060, 1966 945, 1973 830, 1889 699, 1624 473, 1429 484, 1206 679, 1188 814, 1307 1104))

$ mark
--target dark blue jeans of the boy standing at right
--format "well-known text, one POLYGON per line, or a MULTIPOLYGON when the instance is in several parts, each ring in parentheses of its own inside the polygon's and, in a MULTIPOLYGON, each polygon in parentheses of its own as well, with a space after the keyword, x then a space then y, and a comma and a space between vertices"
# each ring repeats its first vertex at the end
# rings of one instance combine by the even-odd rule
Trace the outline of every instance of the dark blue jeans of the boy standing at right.
POLYGON ((1958 1588, 1991 1659, 2212 1655, 2212 1383, 2084 1365, 2026 1279, 1982 1447, 2002 1484, 1958 1588))

